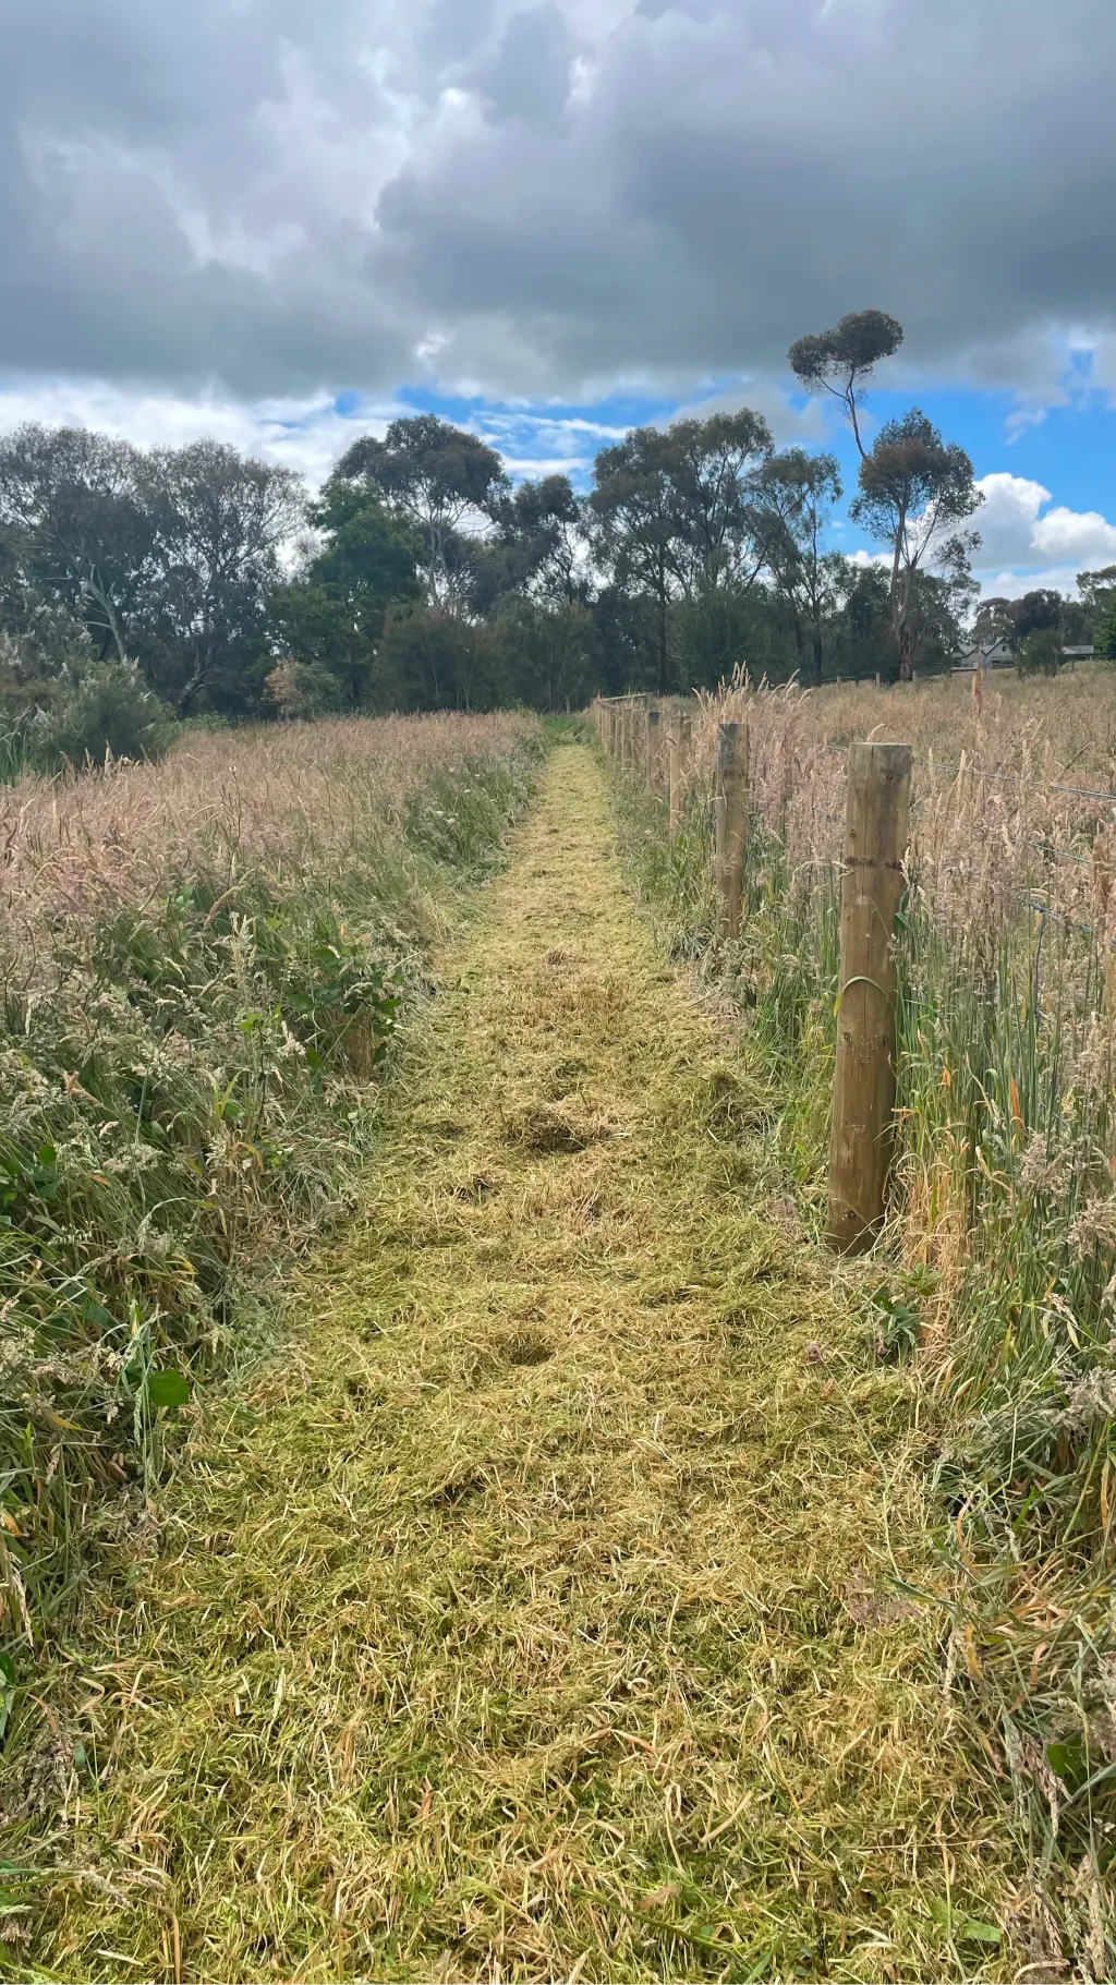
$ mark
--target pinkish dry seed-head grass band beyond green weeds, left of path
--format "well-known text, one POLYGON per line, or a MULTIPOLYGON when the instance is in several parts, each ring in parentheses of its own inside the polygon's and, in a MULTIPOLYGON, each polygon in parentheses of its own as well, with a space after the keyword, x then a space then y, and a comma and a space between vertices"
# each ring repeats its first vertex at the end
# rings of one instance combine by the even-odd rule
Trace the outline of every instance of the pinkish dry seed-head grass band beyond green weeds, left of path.
POLYGON ((0 947, 10 971, 46 965, 68 919, 157 905, 201 867, 236 887, 288 887, 312 867, 349 867, 399 836, 417 796, 469 782, 473 764, 514 760, 520 717, 383 717, 248 732, 203 732, 163 764, 111 764, 77 778, 0 788, 0 947))

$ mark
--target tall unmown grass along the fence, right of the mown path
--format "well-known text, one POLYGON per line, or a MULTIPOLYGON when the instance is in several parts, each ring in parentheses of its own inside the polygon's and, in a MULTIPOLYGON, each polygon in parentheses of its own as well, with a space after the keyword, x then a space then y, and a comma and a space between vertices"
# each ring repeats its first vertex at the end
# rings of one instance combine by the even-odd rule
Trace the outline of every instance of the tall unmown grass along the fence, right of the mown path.
MULTIPOLYGON (((931 1433, 951 1661, 997 1729, 1052 1916, 1106 1977, 1116 1850, 1116 677, 703 699, 689 804, 622 790, 677 959, 747 1014, 780 1161, 824 1221, 844 746, 909 740, 900 1155, 880 1344, 931 1433), (717 723, 747 721, 747 917, 713 935, 717 723)), ((1056 1973, 1054 1973, 1056 1975, 1056 1973)))

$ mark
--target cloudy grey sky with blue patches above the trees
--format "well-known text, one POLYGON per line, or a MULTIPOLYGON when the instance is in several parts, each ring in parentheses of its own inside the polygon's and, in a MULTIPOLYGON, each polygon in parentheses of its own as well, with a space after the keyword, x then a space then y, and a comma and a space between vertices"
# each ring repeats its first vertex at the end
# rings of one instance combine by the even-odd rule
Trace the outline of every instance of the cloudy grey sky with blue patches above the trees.
MULTIPOLYGON (((0 0, 0 429, 320 480, 417 409, 512 474, 906 328, 987 592, 1116 562, 1112 0, 0 0)), ((834 542, 868 552, 838 516, 834 542)))

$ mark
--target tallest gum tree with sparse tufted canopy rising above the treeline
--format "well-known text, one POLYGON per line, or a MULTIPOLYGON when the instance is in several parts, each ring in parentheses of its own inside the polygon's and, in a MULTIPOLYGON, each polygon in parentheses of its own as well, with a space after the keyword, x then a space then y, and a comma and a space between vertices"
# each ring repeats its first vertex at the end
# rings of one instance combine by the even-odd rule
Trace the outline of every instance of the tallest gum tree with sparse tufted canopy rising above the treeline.
POLYGON ((860 494, 850 516, 892 552, 892 633, 900 681, 909 683, 915 653, 915 599, 929 568, 963 590, 969 556, 981 538, 963 530, 983 504, 973 482, 973 463, 955 443, 945 443, 933 423, 911 407, 902 421, 888 421, 868 451, 860 433, 866 383, 882 359, 904 341, 898 318, 884 310, 856 310, 834 326, 790 345, 790 369, 808 393, 832 393, 844 407, 860 451, 860 494))

